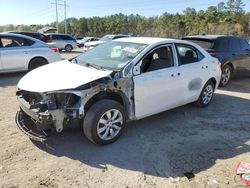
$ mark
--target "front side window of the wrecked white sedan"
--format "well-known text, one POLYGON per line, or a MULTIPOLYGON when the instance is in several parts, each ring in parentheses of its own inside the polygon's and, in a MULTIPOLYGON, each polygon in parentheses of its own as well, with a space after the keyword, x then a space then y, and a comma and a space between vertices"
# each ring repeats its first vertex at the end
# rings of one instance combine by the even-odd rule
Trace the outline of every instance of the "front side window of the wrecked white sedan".
POLYGON ((141 61, 141 72, 151 72, 174 66, 171 46, 159 47, 141 61))

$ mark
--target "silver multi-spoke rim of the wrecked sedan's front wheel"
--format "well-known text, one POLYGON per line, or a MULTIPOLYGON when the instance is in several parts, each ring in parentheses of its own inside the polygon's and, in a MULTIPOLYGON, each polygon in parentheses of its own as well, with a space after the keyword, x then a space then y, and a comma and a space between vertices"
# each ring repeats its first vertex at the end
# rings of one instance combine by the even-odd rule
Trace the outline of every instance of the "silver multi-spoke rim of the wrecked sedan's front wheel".
POLYGON ((99 119, 97 134, 103 140, 111 140, 121 131, 122 124, 122 113, 117 109, 110 109, 99 119))

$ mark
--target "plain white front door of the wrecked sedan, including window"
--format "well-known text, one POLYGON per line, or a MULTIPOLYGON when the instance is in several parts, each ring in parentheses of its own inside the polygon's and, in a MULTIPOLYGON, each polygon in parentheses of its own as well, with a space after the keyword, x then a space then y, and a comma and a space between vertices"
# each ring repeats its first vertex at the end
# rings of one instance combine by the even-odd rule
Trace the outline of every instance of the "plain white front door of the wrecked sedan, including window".
POLYGON ((182 88, 174 55, 169 44, 153 49, 139 62, 140 74, 133 77, 137 119, 180 105, 182 88))

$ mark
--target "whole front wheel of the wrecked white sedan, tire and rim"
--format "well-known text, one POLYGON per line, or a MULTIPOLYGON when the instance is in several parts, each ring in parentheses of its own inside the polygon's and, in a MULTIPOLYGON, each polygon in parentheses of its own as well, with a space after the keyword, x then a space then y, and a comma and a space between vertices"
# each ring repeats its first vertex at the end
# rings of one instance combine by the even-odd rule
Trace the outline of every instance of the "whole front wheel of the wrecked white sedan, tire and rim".
POLYGON ((101 100, 87 111, 83 131, 95 144, 106 145, 116 141, 125 123, 123 106, 113 100, 101 100))

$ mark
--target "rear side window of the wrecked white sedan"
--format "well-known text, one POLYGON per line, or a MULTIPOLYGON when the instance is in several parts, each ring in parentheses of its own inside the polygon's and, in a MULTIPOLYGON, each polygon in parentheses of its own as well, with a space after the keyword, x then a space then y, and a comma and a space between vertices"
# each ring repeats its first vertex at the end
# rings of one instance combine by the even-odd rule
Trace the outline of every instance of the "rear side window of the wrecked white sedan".
POLYGON ((201 61, 205 56, 196 48, 185 44, 176 45, 179 65, 195 63, 201 61))

